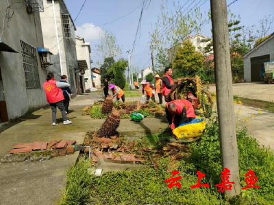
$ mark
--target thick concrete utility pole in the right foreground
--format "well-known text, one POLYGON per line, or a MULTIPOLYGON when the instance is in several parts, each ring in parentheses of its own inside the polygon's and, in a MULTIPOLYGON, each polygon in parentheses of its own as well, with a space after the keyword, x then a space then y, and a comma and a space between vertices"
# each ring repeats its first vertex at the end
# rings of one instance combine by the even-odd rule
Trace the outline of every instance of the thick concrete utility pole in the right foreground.
MULTIPOLYGON (((226 0, 210 0, 213 30, 214 67, 222 167, 230 170, 232 190, 225 195, 240 194, 238 146, 232 90, 226 0)), ((220 173, 221 174, 221 173, 220 173)))

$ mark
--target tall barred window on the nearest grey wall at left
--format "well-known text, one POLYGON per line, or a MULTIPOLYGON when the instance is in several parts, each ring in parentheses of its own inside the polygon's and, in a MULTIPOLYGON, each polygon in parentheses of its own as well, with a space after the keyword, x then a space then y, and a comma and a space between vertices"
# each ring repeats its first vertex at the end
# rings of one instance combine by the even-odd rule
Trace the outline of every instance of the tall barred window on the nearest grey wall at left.
POLYGON ((20 40, 27 89, 40 88, 36 48, 20 40))

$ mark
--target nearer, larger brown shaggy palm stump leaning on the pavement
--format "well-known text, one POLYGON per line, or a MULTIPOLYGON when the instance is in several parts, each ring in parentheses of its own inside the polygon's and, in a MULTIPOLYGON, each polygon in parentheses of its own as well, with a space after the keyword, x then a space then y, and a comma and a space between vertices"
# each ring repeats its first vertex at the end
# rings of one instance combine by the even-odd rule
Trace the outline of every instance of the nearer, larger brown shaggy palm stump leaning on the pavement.
POLYGON ((95 136, 97 137, 107 137, 110 138, 110 136, 115 135, 117 128, 120 124, 120 116, 119 112, 114 110, 110 116, 108 116, 107 119, 105 119, 105 122, 101 126, 101 128, 95 133, 95 136))

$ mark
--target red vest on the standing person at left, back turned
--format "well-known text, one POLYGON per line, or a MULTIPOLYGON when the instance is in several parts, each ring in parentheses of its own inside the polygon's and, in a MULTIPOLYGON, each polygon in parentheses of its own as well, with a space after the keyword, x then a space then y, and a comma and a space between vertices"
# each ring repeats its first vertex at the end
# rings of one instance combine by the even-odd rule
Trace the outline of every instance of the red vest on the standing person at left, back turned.
POLYGON ((64 95, 61 88, 56 86, 56 80, 49 80, 43 84, 44 91, 47 95, 47 102, 53 104, 64 100, 64 95))

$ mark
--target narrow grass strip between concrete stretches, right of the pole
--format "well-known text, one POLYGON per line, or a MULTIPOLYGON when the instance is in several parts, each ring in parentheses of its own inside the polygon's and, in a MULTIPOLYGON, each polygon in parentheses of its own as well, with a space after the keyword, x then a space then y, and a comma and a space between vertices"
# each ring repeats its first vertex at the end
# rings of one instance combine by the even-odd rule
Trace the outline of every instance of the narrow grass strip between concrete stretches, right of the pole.
POLYGON ((234 95, 235 101, 242 101, 242 105, 249 106, 253 108, 260 108, 263 110, 269 110, 274 112, 274 102, 271 101, 264 101, 260 99, 250 99, 247 97, 239 97, 238 95, 234 95))

